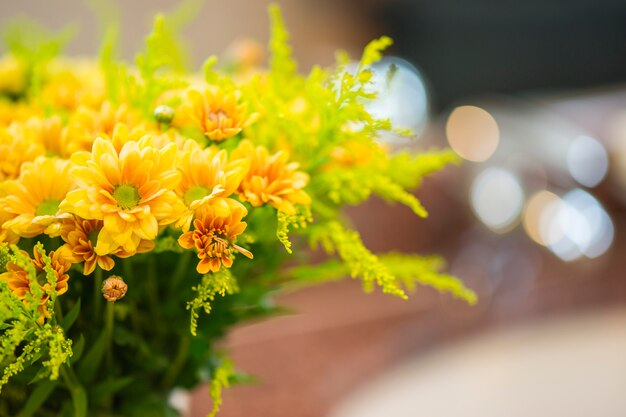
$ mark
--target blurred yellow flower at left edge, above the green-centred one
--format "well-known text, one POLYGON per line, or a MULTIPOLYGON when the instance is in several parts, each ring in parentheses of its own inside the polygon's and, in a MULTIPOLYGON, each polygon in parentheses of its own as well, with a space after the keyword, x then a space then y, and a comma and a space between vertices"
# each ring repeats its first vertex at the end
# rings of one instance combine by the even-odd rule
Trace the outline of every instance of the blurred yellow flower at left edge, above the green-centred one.
POLYGON ((45 153, 44 146, 34 140, 23 123, 0 128, 0 180, 17 178, 24 162, 34 161, 45 153))

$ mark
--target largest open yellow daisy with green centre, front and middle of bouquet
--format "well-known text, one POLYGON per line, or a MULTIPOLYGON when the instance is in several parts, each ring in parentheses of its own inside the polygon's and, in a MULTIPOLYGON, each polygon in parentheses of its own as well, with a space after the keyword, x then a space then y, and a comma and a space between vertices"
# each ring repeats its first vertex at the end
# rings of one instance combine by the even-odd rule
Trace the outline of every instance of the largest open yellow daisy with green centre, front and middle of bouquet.
POLYGON ((71 174, 78 189, 61 209, 87 220, 102 220, 95 252, 104 256, 120 248, 135 253, 142 240, 156 238, 159 227, 175 222, 185 206, 174 189, 176 145, 153 146, 150 136, 126 142, 118 153, 110 140, 98 138, 91 153, 73 156, 71 174))

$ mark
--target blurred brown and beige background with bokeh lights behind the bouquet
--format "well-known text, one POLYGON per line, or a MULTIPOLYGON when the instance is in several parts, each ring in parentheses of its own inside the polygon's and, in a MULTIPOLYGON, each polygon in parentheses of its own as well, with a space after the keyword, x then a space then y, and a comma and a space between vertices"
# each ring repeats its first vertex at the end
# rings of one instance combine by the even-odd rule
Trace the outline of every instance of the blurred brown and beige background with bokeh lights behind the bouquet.
MULTIPOLYGON (((79 0, 0 2, 76 24, 71 54, 100 43, 79 0)), ((121 4, 121 3, 120 3, 121 4)), ((184 30, 192 63, 268 39, 265 0, 207 0, 184 30)), ((295 312, 225 346, 258 377, 226 392, 222 417, 626 415, 626 4, 619 0, 283 0, 300 69, 358 57, 382 34, 399 71, 371 110, 465 162, 418 192, 427 221, 372 200, 350 210, 374 251, 440 253, 479 296, 426 288, 409 301, 344 281, 279 297, 295 312), (375 219, 376 221, 372 221, 375 219)), ((123 54, 157 11, 123 3, 123 54)), ((106 7, 104 7, 106 8, 106 7)), ((191 416, 210 409, 193 393, 191 416)))

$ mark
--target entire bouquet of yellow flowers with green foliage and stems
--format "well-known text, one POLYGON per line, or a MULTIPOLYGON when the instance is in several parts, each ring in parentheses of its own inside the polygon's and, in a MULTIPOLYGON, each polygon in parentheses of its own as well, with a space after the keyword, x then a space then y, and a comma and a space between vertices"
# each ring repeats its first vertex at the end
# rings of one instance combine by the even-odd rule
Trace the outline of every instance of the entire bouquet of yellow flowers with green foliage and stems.
MULTIPOLYGON (((280 312, 291 284, 350 275, 405 298, 416 283, 473 303, 437 257, 374 255, 342 215, 377 195, 416 215, 450 151, 391 154, 366 111, 372 41, 356 70, 297 73, 277 7, 254 46, 202 76, 176 22, 155 20, 136 64, 57 57, 65 39, 9 30, 0 61, 0 415, 171 416, 175 387, 242 379, 216 346, 280 312), (311 250, 328 257, 309 262, 311 250), (286 261, 289 261, 286 264, 286 261)), ((23 26, 20 26, 23 27, 23 26)), ((393 74, 388 74, 393 76, 393 74)), ((410 132, 397 131, 410 135, 410 132)))

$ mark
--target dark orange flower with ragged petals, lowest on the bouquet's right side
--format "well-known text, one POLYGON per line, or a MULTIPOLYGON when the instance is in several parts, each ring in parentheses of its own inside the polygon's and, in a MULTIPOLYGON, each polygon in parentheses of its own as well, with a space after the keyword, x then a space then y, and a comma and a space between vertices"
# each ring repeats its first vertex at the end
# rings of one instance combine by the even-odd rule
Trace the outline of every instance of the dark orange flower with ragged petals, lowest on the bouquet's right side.
POLYGON ((196 270, 201 274, 217 272, 224 265, 233 264, 233 251, 252 258, 250 251, 235 244, 235 240, 247 226, 241 219, 247 214, 245 207, 235 200, 228 199, 230 213, 220 216, 211 206, 203 206, 193 222, 194 230, 183 233, 178 243, 185 249, 196 248, 200 262, 196 270))

